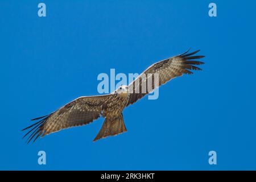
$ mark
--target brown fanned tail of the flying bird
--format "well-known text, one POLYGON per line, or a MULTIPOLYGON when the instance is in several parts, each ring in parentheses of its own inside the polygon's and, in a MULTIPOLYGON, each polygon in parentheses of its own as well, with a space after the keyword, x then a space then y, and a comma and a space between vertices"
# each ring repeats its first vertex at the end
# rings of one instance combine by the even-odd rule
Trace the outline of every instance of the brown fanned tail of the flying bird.
POLYGON ((100 132, 94 138, 93 142, 98 139, 114 136, 126 132, 125 123, 123 122, 123 114, 120 114, 114 119, 106 118, 100 132))

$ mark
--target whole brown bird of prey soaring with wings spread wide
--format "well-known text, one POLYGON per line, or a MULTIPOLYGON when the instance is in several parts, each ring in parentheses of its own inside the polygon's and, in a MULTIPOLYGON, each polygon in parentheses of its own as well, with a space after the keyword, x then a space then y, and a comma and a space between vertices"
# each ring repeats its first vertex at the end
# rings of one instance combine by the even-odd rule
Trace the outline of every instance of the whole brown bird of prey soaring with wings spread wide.
POLYGON ((93 141, 126 132, 125 123, 123 122, 123 109, 134 104, 172 78, 182 76, 183 74, 192 74, 190 70, 201 70, 195 66, 204 64, 197 60, 204 56, 195 55, 199 51, 189 53, 188 50, 181 55, 152 64, 128 86, 122 85, 113 93, 79 97, 51 114, 32 119, 32 121, 39 121, 23 129, 30 129, 24 137, 30 134, 27 139, 28 143, 32 139, 35 142, 40 136, 44 137, 44 135, 73 126, 87 125, 100 117, 105 118, 105 121, 93 141), (148 84, 150 78, 154 80, 155 73, 158 75, 158 85, 151 81, 151 89, 141 92, 143 83, 146 82, 148 84))

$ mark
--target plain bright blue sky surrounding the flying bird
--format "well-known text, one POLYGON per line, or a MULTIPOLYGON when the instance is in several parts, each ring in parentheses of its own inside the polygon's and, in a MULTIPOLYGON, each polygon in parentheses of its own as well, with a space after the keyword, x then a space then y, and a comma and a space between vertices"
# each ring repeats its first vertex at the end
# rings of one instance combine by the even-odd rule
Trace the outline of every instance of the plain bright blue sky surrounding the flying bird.
POLYGON ((213 1, 216 18, 210 2, 2 0, 0 169, 256 169, 256 2, 213 1), (31 118, 98 94, 99 73, 141 73, 190 47, 203 71, 127 107, 127 133, 92 142, 98 119, 22 140, 31 118))

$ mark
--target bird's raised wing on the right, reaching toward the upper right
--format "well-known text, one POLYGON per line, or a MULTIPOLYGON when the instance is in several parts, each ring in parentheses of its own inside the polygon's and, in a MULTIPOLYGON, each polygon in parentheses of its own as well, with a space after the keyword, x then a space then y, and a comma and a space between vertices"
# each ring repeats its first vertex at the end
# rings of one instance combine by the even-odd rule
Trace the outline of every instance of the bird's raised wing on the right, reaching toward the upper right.
MULTIPOLYGON (((189 51, 189 50, 188 50, 189 51)), ((182 76, 183 74, 192 74, 189 70, 201 70, 195 65, 204 64, 197 61, 204 56, 194 56, 198 51, 188 53, 184 52, 181 55, 170 57, 166 60, 159 61, 148 67, 141 75, 139 75, 133 82, 129 84, 129 102, 127 104, 134 104, 146 94, 152 92, 155 87, 165 84, 172 78, 182 76), (155 74, 156 73, 156 74, 155 74), (156 76, 155 76, 156 75, 156 76), (158 82, 155 79, 158 77, 158 82), (158 85, 154 83, 157 82, 158 85), (148 86, 151 85, 151 86, 148 86)))

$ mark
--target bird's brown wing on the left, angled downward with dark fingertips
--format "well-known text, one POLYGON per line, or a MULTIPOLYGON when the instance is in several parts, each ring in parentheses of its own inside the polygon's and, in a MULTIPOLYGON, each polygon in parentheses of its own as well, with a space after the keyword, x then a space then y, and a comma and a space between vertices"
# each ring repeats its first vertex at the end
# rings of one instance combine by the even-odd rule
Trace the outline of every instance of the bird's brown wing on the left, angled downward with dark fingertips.
POLYGON ((51 114, 32 119, 32 121, 38 119, 40 119, 40 121, 23 129, 27 130, 32 128, 24 137, 30 134, 28 143, 33 138, 35 142, 40 136, 44 137, 44 135, 62 129, 86 125, 93 122, 101 116, 102 110, 104 110, 108 101, 112 99, 112 96, 112 94, 108 94, 103 96, 79 97, 51 114))

